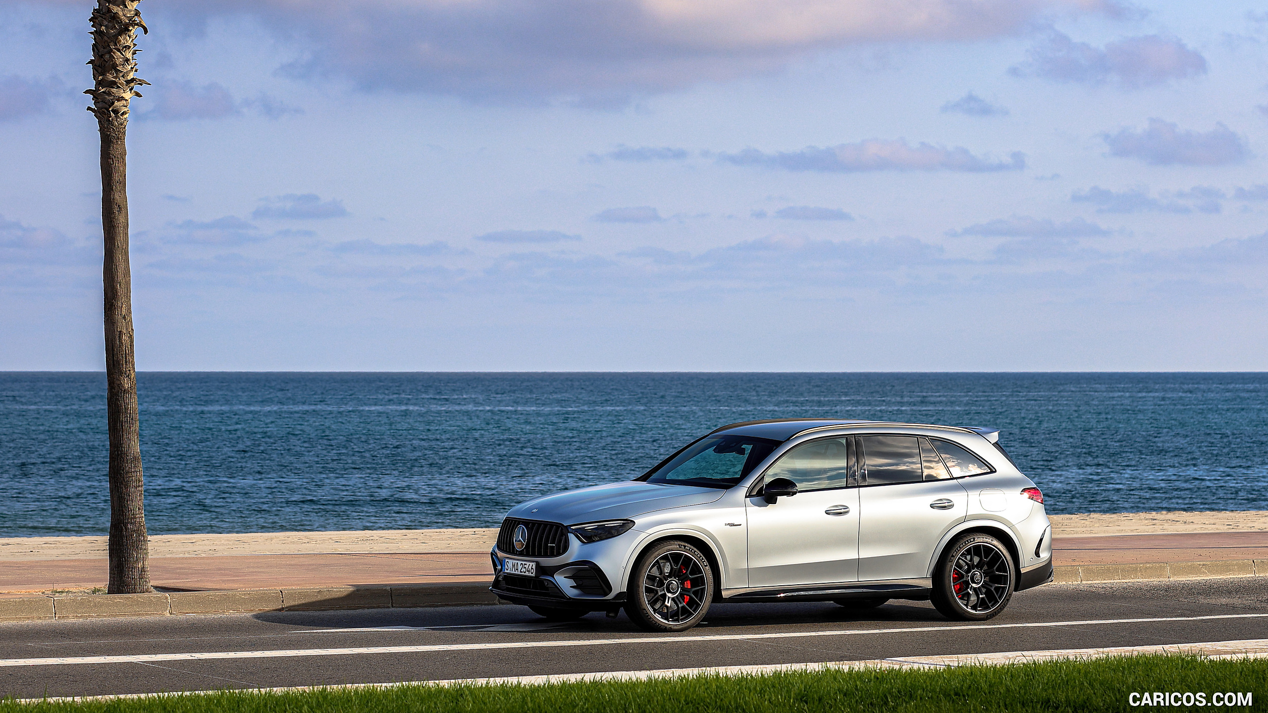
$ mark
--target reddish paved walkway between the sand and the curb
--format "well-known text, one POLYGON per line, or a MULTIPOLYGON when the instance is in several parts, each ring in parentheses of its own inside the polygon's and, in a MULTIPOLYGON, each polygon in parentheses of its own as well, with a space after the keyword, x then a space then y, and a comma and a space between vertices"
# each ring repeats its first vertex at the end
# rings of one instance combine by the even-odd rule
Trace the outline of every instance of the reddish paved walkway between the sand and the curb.
MULTIPOLYGON (((1268 532, 1064 537, 1054 565, 1130 565, 1268 559, 1268 532)), ((479 582, 488 552, 392 552, 152 557, 161 590, 233 590, 349 585, 479 582)), ((105 586, 104 558, 0 561, 0 598, 105 586)))

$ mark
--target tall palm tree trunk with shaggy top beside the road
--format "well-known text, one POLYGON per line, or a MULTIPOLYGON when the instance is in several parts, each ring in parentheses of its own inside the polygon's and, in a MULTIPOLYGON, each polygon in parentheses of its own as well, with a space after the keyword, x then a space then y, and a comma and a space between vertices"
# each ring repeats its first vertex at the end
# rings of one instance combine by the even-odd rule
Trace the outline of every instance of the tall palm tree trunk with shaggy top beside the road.
POLYGON ((89 112, 101 133, 101 231, 105 239, 105 402, 110 433, 109 594, 150 591, 150 542, 141 473, 137 365, 132 339, 132 270, 128 265, 128 107, 138 84, 136 30, 146 29, 139 0, 98 0, 93 23, 89 112))

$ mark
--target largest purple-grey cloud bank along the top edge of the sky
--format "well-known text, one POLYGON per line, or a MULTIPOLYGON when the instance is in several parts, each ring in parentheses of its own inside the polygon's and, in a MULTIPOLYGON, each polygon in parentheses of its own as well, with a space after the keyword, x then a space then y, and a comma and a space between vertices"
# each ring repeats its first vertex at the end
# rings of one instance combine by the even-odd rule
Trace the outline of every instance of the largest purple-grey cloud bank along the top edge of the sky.
POLYGON ((247 15, 304 49, 292 76, 484 101, 631 95, 773 72, 877 42, 1009 37, 1112 0, 171 0, 186 22, 247 15))

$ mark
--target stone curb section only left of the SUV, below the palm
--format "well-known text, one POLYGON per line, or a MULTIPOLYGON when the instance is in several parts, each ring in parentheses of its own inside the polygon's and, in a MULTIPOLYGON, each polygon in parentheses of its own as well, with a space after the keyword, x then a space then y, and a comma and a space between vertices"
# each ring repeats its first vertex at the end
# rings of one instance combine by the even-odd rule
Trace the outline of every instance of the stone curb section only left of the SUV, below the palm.
POLYGON ((0 599, 0 622, 478 606, 497 603, 498 599, 488 591, 488 582, 22 596, 0 599))

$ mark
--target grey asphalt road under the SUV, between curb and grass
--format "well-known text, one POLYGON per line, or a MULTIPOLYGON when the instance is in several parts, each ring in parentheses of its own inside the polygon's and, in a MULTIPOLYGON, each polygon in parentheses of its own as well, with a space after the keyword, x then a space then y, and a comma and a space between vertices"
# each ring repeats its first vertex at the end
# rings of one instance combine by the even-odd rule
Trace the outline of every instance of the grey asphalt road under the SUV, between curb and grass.
POLYGON ((0 697, 394 683, 1268 638, 1268 577, 1046 585, 999 617, 927 603, 721 604, 680 634, 521 606, 0 624, 0 697), (1142 620, 1141 620, 1142 619, 1142 620), (1170 620, 1164 620, 1170 619, 1170 620), (389 628, 398 627, 398 628, 389 628), (393 651, 374 651, 394 647, 393 651), (339 651, 330 651, 339 650, 339 651), (275 655, 269 652, 285 652, 275 655), (143 655, 143 661, 113 656, 143 655), (191 655, 191 656, 189 656, 191 655), (38 665, 13 660, 41 658, 38 665))

